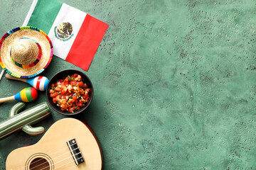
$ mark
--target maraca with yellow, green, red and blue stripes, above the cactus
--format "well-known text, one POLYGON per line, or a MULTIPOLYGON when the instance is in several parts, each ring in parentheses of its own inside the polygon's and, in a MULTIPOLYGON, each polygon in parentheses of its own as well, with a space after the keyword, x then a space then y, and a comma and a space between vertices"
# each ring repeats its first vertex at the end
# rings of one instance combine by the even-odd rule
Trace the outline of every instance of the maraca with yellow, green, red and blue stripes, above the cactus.
POLYGON ((31 102, 31 101, 35 101, 37 97, 38 97, 38 92, 36 91, 36 89, 33 87, 27 87, 21 90, 20 92, 18 92, 18 94, 14 96, 0 98, 0 103, 3 103, 5 101, 14 101, 14 100, 31 102))

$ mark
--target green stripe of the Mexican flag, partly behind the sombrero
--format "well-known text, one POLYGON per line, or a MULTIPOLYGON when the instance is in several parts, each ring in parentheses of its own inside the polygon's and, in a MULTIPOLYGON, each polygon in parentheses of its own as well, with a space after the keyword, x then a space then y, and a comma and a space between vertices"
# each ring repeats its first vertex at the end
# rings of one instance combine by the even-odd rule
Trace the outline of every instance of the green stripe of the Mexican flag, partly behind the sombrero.
POLYGON ((39 28, 48 34, 62 5, 63 2, 57 0, 38 0, 27 26, 39 28))

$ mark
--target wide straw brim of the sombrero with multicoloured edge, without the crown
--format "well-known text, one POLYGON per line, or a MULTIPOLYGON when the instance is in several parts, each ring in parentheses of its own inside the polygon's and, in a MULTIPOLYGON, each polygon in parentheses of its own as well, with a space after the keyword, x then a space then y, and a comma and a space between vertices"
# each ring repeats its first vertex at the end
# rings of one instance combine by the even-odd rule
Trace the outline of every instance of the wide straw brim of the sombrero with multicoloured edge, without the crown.
POLYGON ((0 40, 0 65, 1 67, 14 77, 31 78, 41 74, 53 57, 53 44, 50 38, 43 30, 35 27, 26 26, 9 30, 0 40), (11 60, 10 50, 15 40, 20 38, 31 38, 41 45, 41 60, 34 67, 21 68, 16 66, 11 60))

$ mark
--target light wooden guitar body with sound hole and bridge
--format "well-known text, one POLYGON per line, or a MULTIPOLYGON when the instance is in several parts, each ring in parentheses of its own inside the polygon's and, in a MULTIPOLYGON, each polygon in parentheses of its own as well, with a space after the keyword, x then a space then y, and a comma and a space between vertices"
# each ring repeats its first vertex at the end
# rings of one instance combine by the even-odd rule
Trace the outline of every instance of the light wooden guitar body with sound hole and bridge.
POLYGON ((53 169, 102 169, 100 144, 80 120, 58 120, 39 142, 15 149, 6 159, 6 170, 53 169))

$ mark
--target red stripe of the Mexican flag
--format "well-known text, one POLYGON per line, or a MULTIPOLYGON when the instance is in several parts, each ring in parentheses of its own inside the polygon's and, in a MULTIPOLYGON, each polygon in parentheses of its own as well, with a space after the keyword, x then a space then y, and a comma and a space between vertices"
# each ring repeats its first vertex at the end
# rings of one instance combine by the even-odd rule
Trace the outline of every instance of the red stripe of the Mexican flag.
POLYGON ((107 27, 107 23, 87 14, 65 60, 87 71, 107 27))

